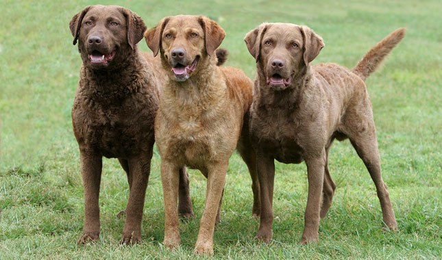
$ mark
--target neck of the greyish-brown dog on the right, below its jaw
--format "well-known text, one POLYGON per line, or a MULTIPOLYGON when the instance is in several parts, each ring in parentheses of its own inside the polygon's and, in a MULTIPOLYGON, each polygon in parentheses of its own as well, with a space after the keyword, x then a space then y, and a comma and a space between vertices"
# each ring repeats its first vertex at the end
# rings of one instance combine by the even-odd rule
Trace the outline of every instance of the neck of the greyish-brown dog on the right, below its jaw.
POLYGON ((255 89, 256 100, 258 101, 256 105, 265 109, 297 109, 303 100, 304 88, 312 80, 310 65, 304 66, 304 68, 299 70, 299 73, 293 77, 291 86, 284 90, 272 90, 267 84, 265 73, 262 73, 263 70, 259 66, 260 64, 258 64, 258 77, 255 89))

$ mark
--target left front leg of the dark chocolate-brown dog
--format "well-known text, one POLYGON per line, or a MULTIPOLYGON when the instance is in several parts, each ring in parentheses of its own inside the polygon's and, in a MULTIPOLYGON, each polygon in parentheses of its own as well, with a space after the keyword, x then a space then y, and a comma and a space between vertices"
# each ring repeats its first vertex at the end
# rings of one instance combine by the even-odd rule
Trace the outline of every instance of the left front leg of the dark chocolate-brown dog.
POLYGON ((83 234, 77 243, 85 244, 97 240, 100 233, 100 209, 98 205, 101 181, 101 155, 80 151, 81 171, 84 187, 83 234))

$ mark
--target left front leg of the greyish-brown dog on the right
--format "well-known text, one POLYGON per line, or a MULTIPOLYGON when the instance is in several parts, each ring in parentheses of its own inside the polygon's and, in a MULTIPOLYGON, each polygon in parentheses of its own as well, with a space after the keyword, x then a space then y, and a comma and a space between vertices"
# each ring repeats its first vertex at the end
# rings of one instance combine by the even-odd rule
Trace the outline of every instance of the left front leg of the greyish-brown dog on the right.
POLYGON ((273 235, 273 184, 275 180, 275 159, 264 152, 257 153, 256 170, 260 183, 261 214, 256 238, 266 243, 273 235))

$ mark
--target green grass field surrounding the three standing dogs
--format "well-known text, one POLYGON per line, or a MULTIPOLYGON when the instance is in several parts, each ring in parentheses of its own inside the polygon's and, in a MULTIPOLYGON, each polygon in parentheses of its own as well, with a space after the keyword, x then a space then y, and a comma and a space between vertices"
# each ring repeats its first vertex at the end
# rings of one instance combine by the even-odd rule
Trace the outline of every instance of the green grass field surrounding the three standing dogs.
MULTIPOLYGON (((69 21, 85 5, 124 5, 153 27, 163 16, 205 14, 227 32, 228 65, 254 77, 243 38, 265 21, 305 24, 326 48, 315 62, 352 67, 397 27, 406 38, 367 79, 383 177, 400 231, 385 232, 374 185, 349 142, 336 143, 330 172, 334 203, 320 242, 299 246, 304 228, 306 167, 276 164, 274 235, 256 242, 251 181, 232 156, 215 259, 440 259, 442 257, 442 34, 440 1, 11 1, 0 16, 0 259, 187 259, 193 255, 206 181, 191 171, 197 219, 180 224, 182 246, 162 247, 164 211, 160 158, 154 155, 143 218, 143 243, 119 246, 128 187, 115 159, 105 159, 100 194, 101 236, 77 246, 84 214, 79 152, 71 107, 80 58, 69 21)), ((140 48, 147 50, 144 41, 140 48)), ((314 62, 314 63, 315 63, 314 62)))

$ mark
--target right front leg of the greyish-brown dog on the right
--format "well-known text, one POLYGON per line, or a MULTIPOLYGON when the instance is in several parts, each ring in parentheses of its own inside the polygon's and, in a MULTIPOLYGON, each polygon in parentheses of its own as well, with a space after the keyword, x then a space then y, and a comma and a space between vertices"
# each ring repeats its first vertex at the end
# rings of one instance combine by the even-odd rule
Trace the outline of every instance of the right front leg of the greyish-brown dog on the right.
POLYGON ((304 233, 300 244, 318 241, 319 212, 321 211, 321 196, 323 187, 324 167, 326 165, 325 151, 317 157, 307 157, 308 197, 304 215, 304 233))

